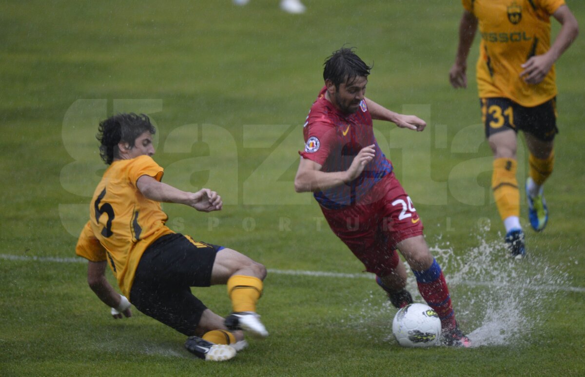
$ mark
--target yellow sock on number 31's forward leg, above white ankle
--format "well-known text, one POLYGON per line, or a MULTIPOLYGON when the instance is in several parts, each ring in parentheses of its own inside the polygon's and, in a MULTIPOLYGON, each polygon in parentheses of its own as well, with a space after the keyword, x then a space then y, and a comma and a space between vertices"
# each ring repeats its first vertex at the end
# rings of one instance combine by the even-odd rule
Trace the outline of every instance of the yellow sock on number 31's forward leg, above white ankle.
POLYGON ((494 191, 495 205, 502 221, 510 216, 520 215, 520 191, 516 180, 517 162, 512 159, 494 160, 494 173, 491 176, 491 189, 494 191))

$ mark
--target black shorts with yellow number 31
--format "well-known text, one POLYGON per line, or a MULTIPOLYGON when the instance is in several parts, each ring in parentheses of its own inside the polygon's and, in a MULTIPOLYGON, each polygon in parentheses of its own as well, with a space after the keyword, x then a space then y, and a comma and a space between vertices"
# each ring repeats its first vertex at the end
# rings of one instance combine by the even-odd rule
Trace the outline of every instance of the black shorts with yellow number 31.
POLYGON ((508 98, 481 98, 481 120, 490 135, 508 129, 528 132, 548 142, 559 133, 556 128, 556 97, 535 107, 524 107, 508 98))

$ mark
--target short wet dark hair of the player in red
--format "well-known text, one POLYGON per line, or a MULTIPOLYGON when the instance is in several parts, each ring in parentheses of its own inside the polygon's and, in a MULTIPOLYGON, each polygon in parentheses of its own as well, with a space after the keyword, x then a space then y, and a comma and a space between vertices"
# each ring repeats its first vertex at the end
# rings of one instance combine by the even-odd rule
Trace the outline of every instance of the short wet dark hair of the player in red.
POLYGON ((337 89, 341 83, 351 84, 357 77, 367 77, 372 68, 353 52, 353 47, 342 47, 333 52, 324 66, 323 79, 331 80, 337 89))

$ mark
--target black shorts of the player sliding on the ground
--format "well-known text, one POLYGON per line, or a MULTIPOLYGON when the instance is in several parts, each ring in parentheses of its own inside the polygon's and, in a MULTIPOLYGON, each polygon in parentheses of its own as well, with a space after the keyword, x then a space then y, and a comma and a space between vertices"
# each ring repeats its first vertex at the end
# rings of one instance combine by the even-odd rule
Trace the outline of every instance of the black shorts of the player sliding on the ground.
POLYGON ((190 287, 211 285, 215 255, 221 249, 178 233, 160 237, 140 258, 130 302, 147 316, 194 335, 207 307, 190 287))

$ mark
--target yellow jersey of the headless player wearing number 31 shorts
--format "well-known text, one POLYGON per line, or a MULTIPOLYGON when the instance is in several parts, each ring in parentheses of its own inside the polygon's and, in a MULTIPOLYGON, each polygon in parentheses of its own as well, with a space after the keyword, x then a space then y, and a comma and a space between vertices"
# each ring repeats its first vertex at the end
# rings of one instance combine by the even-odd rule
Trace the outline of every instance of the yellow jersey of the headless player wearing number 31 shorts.
POLYGON ((539 84, 526 84, 521 64, 550 48, 550 15, 565 0, 462 0, 479 20, 477 61, 480 98, 505 97, 534 107, 555 97, 555 67, 539 84))

